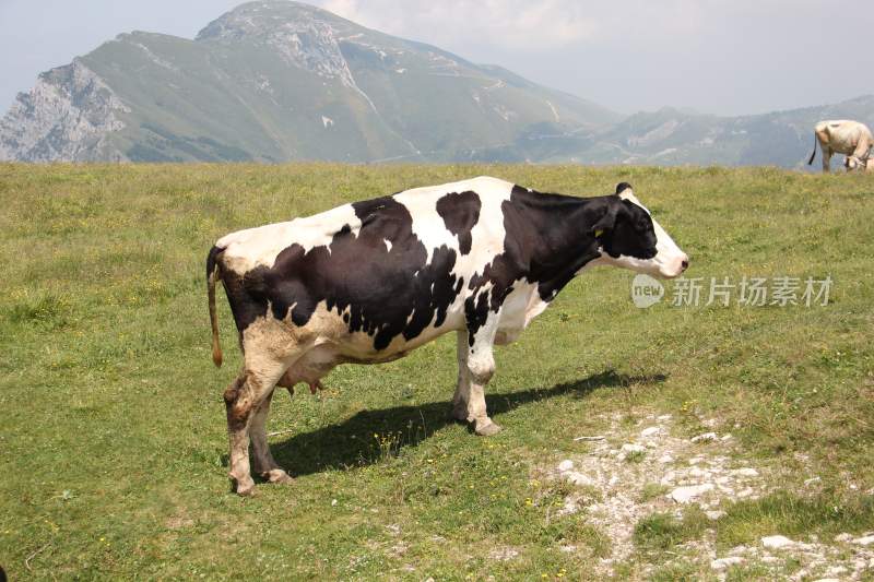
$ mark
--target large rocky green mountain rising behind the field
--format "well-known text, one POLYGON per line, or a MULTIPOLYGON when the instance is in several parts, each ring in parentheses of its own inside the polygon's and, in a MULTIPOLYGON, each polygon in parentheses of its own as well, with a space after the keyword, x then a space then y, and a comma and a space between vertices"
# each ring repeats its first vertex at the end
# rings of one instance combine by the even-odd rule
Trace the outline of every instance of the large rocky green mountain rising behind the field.
POLYGON ((0 121, 0 159, 459 159, 618 119, 314 7, 251 2, 194 40, 122 34, 43 73, 0 121))

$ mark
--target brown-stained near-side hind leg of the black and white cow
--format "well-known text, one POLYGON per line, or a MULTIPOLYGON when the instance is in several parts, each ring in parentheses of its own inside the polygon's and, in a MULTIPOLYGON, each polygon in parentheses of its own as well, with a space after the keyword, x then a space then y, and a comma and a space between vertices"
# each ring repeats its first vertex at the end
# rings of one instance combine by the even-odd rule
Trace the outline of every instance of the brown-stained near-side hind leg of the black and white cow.
POLYGON ((249 465, 250 430, 259 407, 273 392, 276 381, 284 371, 280 363, 264 364, 257 368, 247 366, 225 390, 227 433, 231 441, 228 476, 236 484, 238 495, 247 496, 255 492, 255 482, 249 465))

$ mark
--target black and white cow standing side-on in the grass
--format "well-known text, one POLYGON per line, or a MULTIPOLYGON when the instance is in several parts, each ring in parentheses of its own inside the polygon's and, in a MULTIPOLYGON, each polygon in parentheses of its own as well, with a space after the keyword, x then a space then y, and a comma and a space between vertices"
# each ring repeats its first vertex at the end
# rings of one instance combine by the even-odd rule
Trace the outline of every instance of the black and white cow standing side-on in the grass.
POLYGON ((499 427, 484 388, 495 344, 513 342, 584 269, 678 276, 688 257, 621 183, 616 194, 539 193, 496 178, 416 188, 221 238, 206 261, 213 360, 221 366, 215 281, 224 284, 244 367, 225 390, 231 477, 288 475, 264 424, 276 385, 320 379, 339 364, 405 356, 458 334, 452 415, 477 435, 499 427))

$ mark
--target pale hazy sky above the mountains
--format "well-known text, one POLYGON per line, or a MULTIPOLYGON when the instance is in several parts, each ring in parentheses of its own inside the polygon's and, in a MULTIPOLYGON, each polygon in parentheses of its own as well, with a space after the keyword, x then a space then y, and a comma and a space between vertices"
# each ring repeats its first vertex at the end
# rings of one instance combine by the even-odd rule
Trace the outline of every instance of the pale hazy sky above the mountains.
MULTIPOLYGON (((0 0, 0 110, 122 32, 193 37, 228 0, 0 0)), ((622 112, 724 115, 874 93, 874 9, 834 0, 318 0, 622 112), (846 11, 840 10, 847 8, 846 11)))

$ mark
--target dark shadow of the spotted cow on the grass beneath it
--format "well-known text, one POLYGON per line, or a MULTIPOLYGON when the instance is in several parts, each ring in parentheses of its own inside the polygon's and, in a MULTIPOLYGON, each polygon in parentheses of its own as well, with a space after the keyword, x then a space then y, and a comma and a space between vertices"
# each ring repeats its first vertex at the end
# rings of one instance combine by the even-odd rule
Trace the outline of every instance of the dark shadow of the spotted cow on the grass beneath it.
MULTIPOLYGON (((552 388, 489 394, 486 405, 489 415, 500 424, 500 415, 532 402, 565 394, 582 399, 599 388, 656 384, 665 378, 663 375, 627 376, 606 370, 552 388)), ((295 476, 366 466, 379 462, 387 454, 397 454, 401 449, 415 448, 446 426, 458 424, 449 416, 450 408, 448 401, 440 401, 362 411, 336 425, 274 442, 271 451, 280 465, 295 476)))

